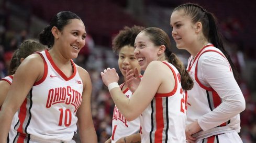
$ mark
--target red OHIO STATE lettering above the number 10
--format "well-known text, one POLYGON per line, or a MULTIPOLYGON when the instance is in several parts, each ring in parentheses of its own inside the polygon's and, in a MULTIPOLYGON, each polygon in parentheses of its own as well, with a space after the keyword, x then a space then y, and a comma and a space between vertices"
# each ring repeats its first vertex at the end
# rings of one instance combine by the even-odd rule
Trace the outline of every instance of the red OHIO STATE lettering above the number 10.
POLYGON ((66 105, 73 105, 75 111, 82 102, 82 94, 70 86, 52 88, 48 92, 46 108, 50 108, 57 103, 65 103, 66 105))

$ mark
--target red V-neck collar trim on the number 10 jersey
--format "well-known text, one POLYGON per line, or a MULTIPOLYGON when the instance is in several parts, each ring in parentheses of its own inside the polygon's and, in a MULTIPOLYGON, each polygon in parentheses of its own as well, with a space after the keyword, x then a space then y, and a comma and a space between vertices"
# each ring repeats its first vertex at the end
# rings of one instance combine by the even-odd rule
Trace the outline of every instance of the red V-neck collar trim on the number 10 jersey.
POLYGON ((73 67, 74 72, 73 72, 73 74, 72 74, 70 77, 67 77, 67 76, 56 66, 56 64, 55 64, 54 61, 52 60, 51 55, 50 55, 50 53, 48 52, 48 50, 45 50, 45 51, 46 51, 46 57, 47 57, 48 60, 50 61, 50 63, 51 63, 51 65, 52 65, 52 67, 54 68, 54 70, 57 71, 57 72, 60 74, 60 76, 61 76, 65 81, 69 81, 69 80, 73 79, 73 77, 74 77, 75 74, 76 74, 76 67, 75 67, 75 64, 74 64, 73 60, 71 59, 70 61, 71 61, 71 64, 72 64, 72 67, 73 67))

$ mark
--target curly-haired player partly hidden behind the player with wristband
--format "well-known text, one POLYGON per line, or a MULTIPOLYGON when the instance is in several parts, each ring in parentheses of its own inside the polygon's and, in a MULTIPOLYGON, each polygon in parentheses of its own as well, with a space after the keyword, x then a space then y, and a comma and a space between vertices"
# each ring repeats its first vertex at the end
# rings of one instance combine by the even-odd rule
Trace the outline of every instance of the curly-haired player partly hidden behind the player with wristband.
MULTIPOLYGON (((119 70, 123 74, 125 81, 120 85, 120 89, 127 98, 132 96, 132 92, 126 85, 126 69, 140 69, 139 62, 135 58, 133 51, 135 49, 135 38, 142 29, 144 28, 138 26, 131 28, 125 27, 123 30, 119 31, 112 43, 113 51, 118 54, 119 70)), ((124 142, 138 142, 140 141, 139 129, 139 118, 129 122, 115 106, 112 119, 112 137, 110 137, 105 143, 118 142, 118 140, 122 140, 124 142)))

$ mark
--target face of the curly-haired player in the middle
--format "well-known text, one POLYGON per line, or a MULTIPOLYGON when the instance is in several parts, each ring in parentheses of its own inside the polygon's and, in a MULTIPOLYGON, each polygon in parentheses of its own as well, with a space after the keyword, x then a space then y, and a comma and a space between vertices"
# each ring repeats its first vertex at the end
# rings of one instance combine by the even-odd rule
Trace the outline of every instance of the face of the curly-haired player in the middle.
POLYGON ((134 49, 135 49, 135 47, 126 45, 124 47, 121 47, 121 49, 119 51, 118 66, 119 66, 121 73, 124 75, 125 78, 126 78, 126 69, 127 68, 132 69, 132 70, 137 68, 140 73, 139 62, 137 61, 137 59, 135 58, 135 56, 133 54, 134 49))

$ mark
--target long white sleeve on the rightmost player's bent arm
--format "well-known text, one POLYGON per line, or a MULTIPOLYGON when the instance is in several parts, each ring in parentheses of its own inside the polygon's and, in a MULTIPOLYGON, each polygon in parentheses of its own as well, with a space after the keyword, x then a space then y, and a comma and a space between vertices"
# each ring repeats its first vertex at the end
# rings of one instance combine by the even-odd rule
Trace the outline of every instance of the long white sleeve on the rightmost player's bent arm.
POLYGON ((207 52, 199 59, 198 70, 202 71, 204 81, 220 96, 222 102, 213 111, 198 119, 204 131, 227 122, 245 109, 245 100, 228 61, 220 54, 207 52), (210 55, 207 55, 207 54, 210 55), (213 116, 215 118, 213 118, 213 116))

